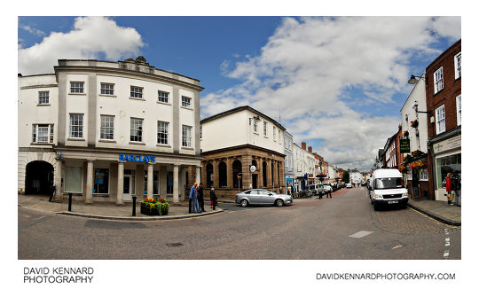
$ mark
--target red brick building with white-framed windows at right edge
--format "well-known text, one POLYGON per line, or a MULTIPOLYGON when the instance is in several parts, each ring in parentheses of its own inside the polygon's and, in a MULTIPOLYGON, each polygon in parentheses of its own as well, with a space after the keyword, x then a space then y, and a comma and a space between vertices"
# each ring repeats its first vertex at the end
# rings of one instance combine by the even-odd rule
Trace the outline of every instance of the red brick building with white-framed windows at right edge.
POLYGON ((446 200, 444 179, 461 164, 460 40, 426 68, 428 199, 446 200))

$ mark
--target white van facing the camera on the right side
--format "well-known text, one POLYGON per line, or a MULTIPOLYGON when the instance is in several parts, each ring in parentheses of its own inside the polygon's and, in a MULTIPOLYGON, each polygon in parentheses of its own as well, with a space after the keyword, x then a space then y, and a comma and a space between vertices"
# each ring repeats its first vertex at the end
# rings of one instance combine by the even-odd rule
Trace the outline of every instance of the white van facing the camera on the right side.
POLYGON ((381 205, 406 207, 408 197, 403 175, 396 168, 376 169, 371 179, 369 198, 374 210, 381 205))

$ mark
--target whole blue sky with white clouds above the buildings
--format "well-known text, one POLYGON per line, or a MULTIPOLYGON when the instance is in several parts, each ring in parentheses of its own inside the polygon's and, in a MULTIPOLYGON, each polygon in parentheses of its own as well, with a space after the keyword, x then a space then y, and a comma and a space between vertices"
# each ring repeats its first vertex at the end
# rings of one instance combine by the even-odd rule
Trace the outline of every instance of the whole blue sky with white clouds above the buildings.
POLYGON ((201 119, 250 105, 340 168, 368 171, 420 75, 461 38, 445 17, 18 18, 19 73, 143 55, 200 80, 201 119))

